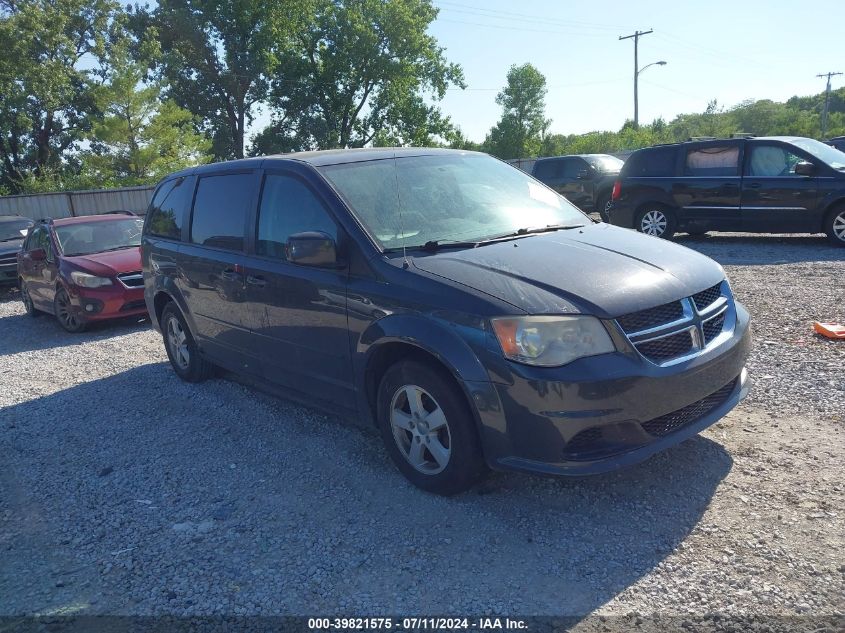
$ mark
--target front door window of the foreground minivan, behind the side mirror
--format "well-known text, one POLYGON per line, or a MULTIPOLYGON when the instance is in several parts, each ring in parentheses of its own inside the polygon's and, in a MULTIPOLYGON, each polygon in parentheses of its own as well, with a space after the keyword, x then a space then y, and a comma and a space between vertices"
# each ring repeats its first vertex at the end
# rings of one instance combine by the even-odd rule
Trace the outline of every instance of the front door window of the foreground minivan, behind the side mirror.
POLYGON ((257 253, 285 259, 288 238, 306 231, 322 231, 337 242, 337 225, 311 189, 298 178, 269 174, 258 211, 257 253))

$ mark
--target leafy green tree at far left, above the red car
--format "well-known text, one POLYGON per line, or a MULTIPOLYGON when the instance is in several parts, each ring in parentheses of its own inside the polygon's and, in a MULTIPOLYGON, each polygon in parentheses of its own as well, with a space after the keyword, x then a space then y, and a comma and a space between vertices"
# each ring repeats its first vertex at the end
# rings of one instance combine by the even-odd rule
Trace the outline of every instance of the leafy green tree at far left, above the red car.
POLYGON ((0 0, 0 184, 60 179, 96 113, 92 73, 112 0, 0 0))

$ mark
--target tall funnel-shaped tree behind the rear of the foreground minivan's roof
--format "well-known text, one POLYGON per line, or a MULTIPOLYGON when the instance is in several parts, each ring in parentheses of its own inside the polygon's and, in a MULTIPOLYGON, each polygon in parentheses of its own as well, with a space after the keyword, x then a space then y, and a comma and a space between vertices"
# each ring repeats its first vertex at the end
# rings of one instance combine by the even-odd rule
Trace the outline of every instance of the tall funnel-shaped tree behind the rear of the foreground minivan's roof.
POLYGON ((201 119, 218 158, 243 158, 247 126, 269 90, 268 78, 310 0, 160 0, 134 15, 137 33, 154 33, 154 69, 168 94, 201 119))

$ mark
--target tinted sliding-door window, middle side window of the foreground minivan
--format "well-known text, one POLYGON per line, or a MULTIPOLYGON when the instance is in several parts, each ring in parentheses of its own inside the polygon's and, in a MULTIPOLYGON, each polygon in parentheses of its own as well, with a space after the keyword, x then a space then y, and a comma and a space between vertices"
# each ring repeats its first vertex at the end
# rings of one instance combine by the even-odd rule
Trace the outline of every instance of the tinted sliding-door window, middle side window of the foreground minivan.
POLYGON ((241 251, 244 225, 252 202, 252 174, 200 178, 191 219, 194 244, 241 251))

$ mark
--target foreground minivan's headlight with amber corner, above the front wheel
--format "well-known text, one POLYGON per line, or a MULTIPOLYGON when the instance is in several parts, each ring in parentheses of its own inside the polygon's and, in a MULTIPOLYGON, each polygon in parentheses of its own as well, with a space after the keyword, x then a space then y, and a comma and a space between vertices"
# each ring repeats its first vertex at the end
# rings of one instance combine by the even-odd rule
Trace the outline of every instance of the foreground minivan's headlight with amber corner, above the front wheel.
POLYGON ((502 352, 527 365, 555 367, 616 348, 604 326, 591 316, 529 316, 491 319, 502 352))

